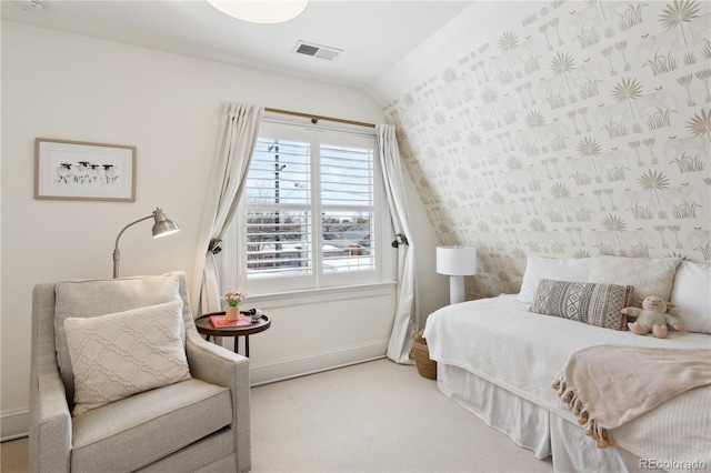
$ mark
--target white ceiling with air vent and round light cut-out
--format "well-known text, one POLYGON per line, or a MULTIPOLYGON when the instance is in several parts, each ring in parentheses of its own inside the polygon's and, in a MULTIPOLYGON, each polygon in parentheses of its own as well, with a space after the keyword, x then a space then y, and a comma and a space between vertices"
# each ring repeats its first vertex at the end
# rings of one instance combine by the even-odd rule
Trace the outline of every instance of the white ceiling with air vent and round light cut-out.
POLYGON ((256 24, 206 1, 1 1, 2 19, 363 89, 471 1, 312 0, 292 21, 256 24), (294 54, 299 41, 342 50, 294 54))

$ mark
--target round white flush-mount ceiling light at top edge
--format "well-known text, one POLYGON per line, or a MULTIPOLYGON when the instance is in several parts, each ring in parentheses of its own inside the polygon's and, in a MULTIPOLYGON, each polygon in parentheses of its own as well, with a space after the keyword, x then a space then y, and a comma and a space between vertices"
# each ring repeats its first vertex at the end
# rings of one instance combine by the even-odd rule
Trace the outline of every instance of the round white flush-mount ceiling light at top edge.
POLYGON ((224 14, 252 23, 283 23, 307 9, 309 0, 208 0, 224 14))

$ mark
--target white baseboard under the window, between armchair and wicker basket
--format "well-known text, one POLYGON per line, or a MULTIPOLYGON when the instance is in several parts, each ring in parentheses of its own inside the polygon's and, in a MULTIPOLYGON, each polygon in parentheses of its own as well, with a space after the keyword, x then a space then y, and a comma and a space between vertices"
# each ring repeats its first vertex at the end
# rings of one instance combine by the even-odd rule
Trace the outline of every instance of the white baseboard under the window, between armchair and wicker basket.
POLYGON ((269 363, 253 364, 250 366, 250 384, 252 386, 258 386, 260 384, 273 383, 291 378, 378 360, 385 356, 387 350, 388 341, 385 340, 381 342, 348 346, 329 352, 288 358, 269 363))

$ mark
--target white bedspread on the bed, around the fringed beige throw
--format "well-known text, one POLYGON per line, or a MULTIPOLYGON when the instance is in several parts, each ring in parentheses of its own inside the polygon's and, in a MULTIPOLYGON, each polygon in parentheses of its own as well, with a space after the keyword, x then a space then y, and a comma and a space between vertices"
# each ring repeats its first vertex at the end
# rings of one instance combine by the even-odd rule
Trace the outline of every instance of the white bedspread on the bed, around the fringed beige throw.
MULTIPOLYGON (((670 331, 667 339, 655 339, 532 313, 515 295, 442 308, 428 318, 424 338, 432 360, 462 368, 568 419, 572 417, 551 383, 580 349, 604 344, 711 348, 711 335, 700 333, 670 331)), ((691 390, 615 429, 613 436, 641 459, 695 462, 709 470, 710 411, 711 388, 691 390)), ((665 470, 678 470, 671 466, 665 470)))

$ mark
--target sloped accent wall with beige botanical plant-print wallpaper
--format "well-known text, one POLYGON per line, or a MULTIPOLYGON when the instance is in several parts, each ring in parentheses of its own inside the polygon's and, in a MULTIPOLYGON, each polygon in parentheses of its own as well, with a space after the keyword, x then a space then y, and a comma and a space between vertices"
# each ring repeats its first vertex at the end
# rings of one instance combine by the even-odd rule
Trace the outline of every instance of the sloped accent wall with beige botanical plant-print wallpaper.
POLYGON ((387 105, 468 298, 527 255, 711 260, 710 6, 552 1, 387 105))

